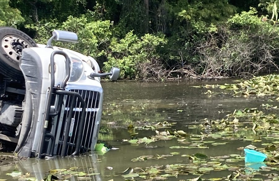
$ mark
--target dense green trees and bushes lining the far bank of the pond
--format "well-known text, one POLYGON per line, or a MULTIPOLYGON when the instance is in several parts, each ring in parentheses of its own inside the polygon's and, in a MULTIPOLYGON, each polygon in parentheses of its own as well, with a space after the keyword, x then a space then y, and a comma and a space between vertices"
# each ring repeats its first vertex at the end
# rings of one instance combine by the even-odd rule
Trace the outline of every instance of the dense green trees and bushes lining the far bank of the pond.
POLYGON ((76 32, 56 45, 93 56, 121 78, 229 77, 277 68, 274 0, 0 0, 0 24, 45 44, 53 29, 76 32))

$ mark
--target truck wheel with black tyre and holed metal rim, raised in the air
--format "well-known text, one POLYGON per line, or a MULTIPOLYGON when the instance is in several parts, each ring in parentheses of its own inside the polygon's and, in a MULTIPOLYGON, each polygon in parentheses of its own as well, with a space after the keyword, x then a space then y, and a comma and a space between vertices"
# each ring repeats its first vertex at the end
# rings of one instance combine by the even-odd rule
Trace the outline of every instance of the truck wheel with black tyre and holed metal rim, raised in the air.
POLYGON ((19 67, 21 52, 24 48, 37 47, 36 42, 18 29, 0 27, 0 44, 1 74, 15 80, 24 79, 19 67))

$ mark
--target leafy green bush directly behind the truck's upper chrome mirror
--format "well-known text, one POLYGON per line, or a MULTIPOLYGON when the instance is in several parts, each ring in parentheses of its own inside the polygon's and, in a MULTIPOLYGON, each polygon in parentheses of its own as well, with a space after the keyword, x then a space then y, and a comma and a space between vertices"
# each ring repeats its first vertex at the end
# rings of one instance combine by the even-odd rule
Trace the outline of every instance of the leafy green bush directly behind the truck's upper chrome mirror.
POLYGON ((42 21, 38 24, 28 24, 25 27, 36 31, 35 41, 41 44, 46 44, 54 29, 75 32, 79 38, 76 44, 54 42, 54 45, 98 58, 106 54, 106 49, 112 37, 111 25, 109 20, 89 22, 83 15, 79 18, 69 16, 62 24, 54 19, 53 21, 42 21))

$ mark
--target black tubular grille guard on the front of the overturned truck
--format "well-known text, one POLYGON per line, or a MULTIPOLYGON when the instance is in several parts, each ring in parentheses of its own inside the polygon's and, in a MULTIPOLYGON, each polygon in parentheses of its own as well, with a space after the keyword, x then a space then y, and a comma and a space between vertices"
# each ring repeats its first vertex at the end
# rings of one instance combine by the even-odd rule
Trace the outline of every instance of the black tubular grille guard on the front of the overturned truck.
MULTIPOLYGON (((67 153, 66 153, 66 147, 67 147, 67 144, 68 144, 67 140, 68 140, 68 134, 69 134, 69 130, 70 130, 71 118, 72 118, 72 114, 73 114, 74 100, 76 100, 76 98, 81 102, 83 109, 82 109, 82 114, 81 114, 81 123, 79 124, 78 137, 77 137, 77 143, 76 143, 75 151, 74 151, 74 153, 71 154, 71 156, 77 155, 80 151, 81 137, 82 137, 82 131, 83 131, 82 128, 83 128, 84 122, 85 122, 86 103, 85 103, 85 100, 83 99, 83 97, 81 96, 81 94, 76 93, 76 92, 65 91, 66 83, 70 78, 70 68, 71 68, 70 66, 71 66, 70 58, 65 52, 57 50, 57 51, 54 51, 51 54, 51 56, 50 56, 50 77, 51 77, 51 81, 50 81, 50 87, 49 87, 49 94, 48 94, 48 97, 47 97, 44 123, 41 126, 41 138, 40 138, 40 141, 39 141, 38 155, 37 155, 38 159, 44 158, 45 156, 52 156, 52 154, 53 154, 55 137, 51 133, 46 133, 46 130, 47 130, 47 127, 48 127, 48 123, 50 121, 50 117, 54 117, 61 112, 64 95, 71 95, 73 97, 72 97, 72 100, 71 100, 70 114, 68 115, 68 120, 67 120, 67 125, 66 125, 66 130, 65 130, 65 137, 63 139, 63 146, 62 146, 61 156, 64 157, 64 156, 67 155, 67 153), (63 55, 66 58, 66 77, 63 80, 60 87, 54 87, 54 84, 55 84, 54 55, 56 55, 56 54, 63 55), (51 101, 52 101, 52 97, 53 97, 54 94, 58 95, 58 109, 55 113, 50 113, 51 101), (46 137, 51 138, 50 154, 46 154, 46 153, 43 154, 43 149, 44 149, 43 147, 44 147, 44 144, 45 144, 45 138, 46 137)), ((59 122, 59 121, 63 121, 63 120, 58 119, 57 122, 59 122)))

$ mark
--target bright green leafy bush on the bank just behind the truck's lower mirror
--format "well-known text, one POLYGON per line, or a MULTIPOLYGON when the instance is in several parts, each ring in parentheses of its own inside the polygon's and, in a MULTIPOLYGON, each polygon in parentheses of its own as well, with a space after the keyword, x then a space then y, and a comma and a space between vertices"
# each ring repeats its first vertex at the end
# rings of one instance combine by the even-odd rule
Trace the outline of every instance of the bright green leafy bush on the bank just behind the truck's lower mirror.
POLYGON ((111 67, 117 66, 121 69, 121 78, 139 78, 142 76, 139 65, 160 59, 158 49, 165 43, 163 35, 145 34, 139 38, 133 31, 128 32, 121 40, 114 38, 109 46, 104 70, 109 71, 111 67))

